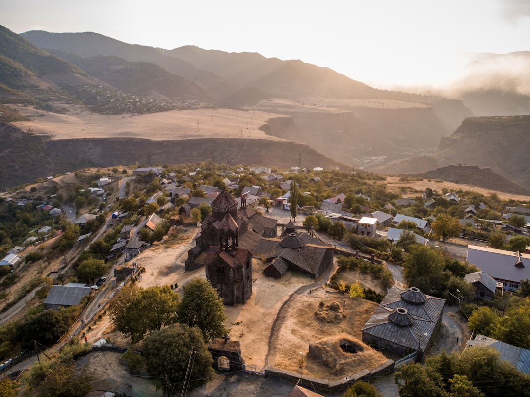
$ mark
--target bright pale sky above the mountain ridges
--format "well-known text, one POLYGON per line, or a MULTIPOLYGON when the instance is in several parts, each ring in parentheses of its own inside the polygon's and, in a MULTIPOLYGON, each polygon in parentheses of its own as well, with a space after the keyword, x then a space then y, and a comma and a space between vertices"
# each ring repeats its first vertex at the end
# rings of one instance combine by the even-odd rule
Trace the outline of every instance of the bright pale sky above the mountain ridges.
POLYGON ((446 84, 473 53, 530 50, 528 0, 2 0, 0 11, 15 33, 258 52, 378 88, 446 84))

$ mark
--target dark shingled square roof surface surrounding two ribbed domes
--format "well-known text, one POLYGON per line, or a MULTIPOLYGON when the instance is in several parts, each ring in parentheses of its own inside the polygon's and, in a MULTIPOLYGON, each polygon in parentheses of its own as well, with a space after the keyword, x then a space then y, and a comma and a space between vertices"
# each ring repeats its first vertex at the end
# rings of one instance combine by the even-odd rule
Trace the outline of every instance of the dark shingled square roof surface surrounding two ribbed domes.
MULTIPOLYGON (((420 343, 420 350, 425 351, 432 337, 432 333, 436 328, 436 324, 443 314, 445 300, 422 294, 425 296, 425 302, 422 304, 404 301, 402 299, 403 293, 410 290, 411 288, 402 290, 399 287, 393 286, 364 325, 362 329, 363 333, 411 349, 418 349, 418 344, 420 343), (407 325, 404 322, 409 321, 404 317, 399 319, 394 318, 398 317, 398 315, 393 314, 396 312, 399 313, 399 311, 396 311, 398 308, 405 309, 407 314, 410 315, 410 319, 412 320, 410 325, 403 326, 407 325), (396 320, 398 324, 393 322, 391 318, 396 320), (424 333, 427 333, 428 337, 422 338, 421 336, 424 333)), ((412 294, 416 293, 416 291, 412 291, 412 294)), ((405 294, 405 296, 409 295, 405 294)))

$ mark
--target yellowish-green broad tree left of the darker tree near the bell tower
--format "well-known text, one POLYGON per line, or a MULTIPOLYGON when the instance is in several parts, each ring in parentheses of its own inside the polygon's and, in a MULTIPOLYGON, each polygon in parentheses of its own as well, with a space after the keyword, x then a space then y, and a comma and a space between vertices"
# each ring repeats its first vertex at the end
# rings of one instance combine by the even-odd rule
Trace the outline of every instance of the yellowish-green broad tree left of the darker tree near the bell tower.
POLYGON ((179 295, 167 285, 144 288, 123 287, 109 305, 114 327, 133 343, 146 334, 176 322, 179 295))

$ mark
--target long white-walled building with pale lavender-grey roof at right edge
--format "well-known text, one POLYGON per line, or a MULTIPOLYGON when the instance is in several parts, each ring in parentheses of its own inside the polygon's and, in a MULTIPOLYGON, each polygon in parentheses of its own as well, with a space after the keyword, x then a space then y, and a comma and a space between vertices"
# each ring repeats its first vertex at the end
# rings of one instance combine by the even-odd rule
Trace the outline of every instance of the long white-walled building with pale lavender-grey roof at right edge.
POLYGON ((530 255, 488 247, 467 246, 467 261, 501 282, 506 291, 517 291, 530 278, 530 255))

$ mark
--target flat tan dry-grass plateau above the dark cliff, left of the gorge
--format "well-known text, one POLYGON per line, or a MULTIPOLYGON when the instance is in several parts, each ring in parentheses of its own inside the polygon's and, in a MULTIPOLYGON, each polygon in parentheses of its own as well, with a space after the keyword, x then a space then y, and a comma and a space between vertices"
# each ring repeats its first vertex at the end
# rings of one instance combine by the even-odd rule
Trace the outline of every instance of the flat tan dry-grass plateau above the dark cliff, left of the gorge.
MULTIPOLYGON (((260 111, 233 109, 171 110, 142 115, 102 115, 75 105, 64 105, 63 114, 48 113, 31 107, 17 107, 29 121, 13 122, 22 131, 52 139, 145 138, 179 140, 196 138, 251 138, 282 140, 270 137, 258 128, 271 118, 260 111)), ((278 115, 276 115, 278 116, 278 115)))

